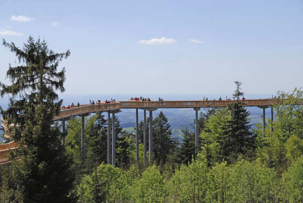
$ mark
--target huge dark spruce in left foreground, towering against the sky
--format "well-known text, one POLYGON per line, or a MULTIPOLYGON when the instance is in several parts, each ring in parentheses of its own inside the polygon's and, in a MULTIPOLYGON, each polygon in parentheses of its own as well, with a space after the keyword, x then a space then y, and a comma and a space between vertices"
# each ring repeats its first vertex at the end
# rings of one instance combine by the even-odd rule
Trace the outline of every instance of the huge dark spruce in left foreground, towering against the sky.
POLYGON ((10 85, 0 83, 1 96, 10 96, 4 119, 12 127, 12 138, 20 142, 17 153, 21 161, 12 163, 6 185, 1 188, 2 202, 69 202, 73 171, 66 157, 57 125, 53 117, 59 114, 62 100, 57 92, 64 92, 65 68, 59 63, 70 55, 55 53, 45 40, 31 36, 23 48, 3 40, 5 47, 16 54, 17 67, 9 66, 10 85), (25 147, 23 145, 26 145, 25 147))

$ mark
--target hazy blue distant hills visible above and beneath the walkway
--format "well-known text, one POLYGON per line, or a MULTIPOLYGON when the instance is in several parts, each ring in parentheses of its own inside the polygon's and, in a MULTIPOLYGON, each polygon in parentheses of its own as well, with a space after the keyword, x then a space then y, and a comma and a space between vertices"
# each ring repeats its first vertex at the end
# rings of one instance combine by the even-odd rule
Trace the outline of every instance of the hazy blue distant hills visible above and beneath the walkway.
MULTIPOLYGON (((66 95, 62 94, 59 97, 64 99, 63 104, 68 106, 72 102, 77 104, 88 104, 88 100, 106 100, 110 98, 115 98, 118 100, 127 100, 130 97, 135 96, 143 96, 150 97, 151 99, 157 100, 158 97, 162 97, 164 100, 201 100, 204 96, 209 99, 218 99, 220 96, 222 98, 232 97, 228 94, 108 94, 108 95, 66 95)), ((269 98, 270 94, 247 94, 245 97, 249 98, 269 98)), ((0 106, 6 109, 8 104, 8 98, 2 98, 0 100, 0 106)), ((257 107, 247 107, 247 110, 250 112, 250 122, 251 124, 255 124, 261 122, 261 115, 263 114, 263 110, 257 107)), ((192 109, 158 109, 153 112, 153 117, 155 118, 160 111, 168 117, 168 121, 171 125, 172 133, 174 137, 180 138, 181 136, 181 128, 185 128, 188 126, 191 130, 191 124, 193 124, 195 112, 192 109)), ((204 111, 203 109, 201 111, 204 111)), ((266 118, 270 118, 270 109, 266 109, 266 118)), ((133 127, 136 125, 136 113, 134 109, 123 109, 121 113, 116 114, 119 118, 121 125, 123 128, 126 128, 129 132, 133 131, 133 127)), ((143 120, 143 110, 138 111, 139 121, 143 120)), ((107 114, 105 114, 107 118, 107 114)), ((148 117, 148 114, 146 115, 148 117)), ((2 133, 0 131, 0 133, 2 133)), ((1 140, 1 138, 0 138, 1 140)))

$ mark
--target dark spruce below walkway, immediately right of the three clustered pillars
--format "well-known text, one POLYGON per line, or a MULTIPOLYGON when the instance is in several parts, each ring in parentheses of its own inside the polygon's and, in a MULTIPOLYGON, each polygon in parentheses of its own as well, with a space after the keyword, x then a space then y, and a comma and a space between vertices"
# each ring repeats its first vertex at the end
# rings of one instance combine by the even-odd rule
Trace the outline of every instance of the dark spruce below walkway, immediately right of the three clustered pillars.
POLYGON ((167 117, 161 111, 154 120, 153 151, 154 161, 160 165, 165 164, 172 149, 177 147, 177 139, 172 136, 172 130, 167 117))

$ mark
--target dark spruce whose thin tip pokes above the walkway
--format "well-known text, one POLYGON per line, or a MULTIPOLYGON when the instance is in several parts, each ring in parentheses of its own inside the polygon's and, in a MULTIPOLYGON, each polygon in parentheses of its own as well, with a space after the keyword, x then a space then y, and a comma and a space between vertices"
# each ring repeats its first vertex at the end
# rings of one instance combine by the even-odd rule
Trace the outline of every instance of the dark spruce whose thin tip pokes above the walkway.
MULTIPOLYGON (((241 82, 236 81, 236 90, 233 94, 239 98, 241 82)), ((231 119, 222 126, 223 133, 218 136, 221 155, 229 162, 233 162, 239 155, 250 156, 255 150, 255 136, 249 124, 249 112, 240 103, 228 106, 231 112, 231 119)))

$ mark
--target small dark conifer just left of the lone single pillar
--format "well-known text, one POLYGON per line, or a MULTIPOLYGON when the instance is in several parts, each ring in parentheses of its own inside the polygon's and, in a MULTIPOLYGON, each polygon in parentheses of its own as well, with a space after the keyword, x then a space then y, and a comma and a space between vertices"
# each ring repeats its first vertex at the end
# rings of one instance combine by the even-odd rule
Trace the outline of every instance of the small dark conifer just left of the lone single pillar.
POLYGON ((181 131, 183 139, 179 148, 178 158, 180 163, 188 164, 195 157, 194 134, 189 131, 187 126, 181 131))

